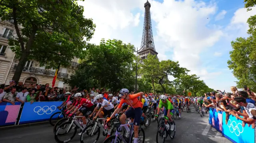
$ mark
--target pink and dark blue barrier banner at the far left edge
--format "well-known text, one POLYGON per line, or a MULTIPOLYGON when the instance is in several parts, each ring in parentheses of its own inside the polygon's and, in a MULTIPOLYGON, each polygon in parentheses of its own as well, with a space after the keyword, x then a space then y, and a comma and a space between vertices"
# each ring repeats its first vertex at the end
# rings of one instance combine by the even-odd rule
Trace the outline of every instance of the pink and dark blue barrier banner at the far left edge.
POLYGON ((14 125, 20 111, 21 102, 15 102, 15 105, 9 102, 0 103, 0 126, 14 125))

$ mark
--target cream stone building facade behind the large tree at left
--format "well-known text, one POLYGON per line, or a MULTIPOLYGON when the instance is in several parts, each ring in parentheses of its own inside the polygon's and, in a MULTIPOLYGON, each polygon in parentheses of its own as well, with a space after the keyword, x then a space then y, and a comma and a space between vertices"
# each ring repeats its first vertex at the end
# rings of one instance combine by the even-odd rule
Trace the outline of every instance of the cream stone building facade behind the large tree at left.
MULTIPOLYGON (((22 28, 22 26, 19 28, 22 28)), ((19 63, 18 59, 15 58, 15 53, 12 52, 8 46, 8 39, 15 34, 16 32, 11 21, 0 20, 0 84, 9 84, 19 63)), ((60 67, 58 78, 55 82, 56 87, 65 87, 69 89, 69 85, 64 84, 62 80, 63 78, 69 78, 70 75, 75 72, 77 66, 79 65, 77 61, 78 59, 74 57, 74 59, 71 61, 70 67, 60 67)), ((45 67, 40 67, 40 64, 37 61, 27 61, 19 81, 23 82, 23 84, 48 83, 50 86, 52 86, 55 71, 55 69, 45 69, 45 67)))

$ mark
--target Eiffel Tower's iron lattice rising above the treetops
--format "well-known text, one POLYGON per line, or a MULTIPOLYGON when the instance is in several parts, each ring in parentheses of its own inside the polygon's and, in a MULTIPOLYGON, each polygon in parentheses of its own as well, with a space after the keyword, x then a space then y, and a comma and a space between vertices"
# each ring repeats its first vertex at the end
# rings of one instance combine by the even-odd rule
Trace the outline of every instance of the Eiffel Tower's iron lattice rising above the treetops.
POLYGON ((141 59, 146 59, 148 54, 157 55, 153 33, 152 33, 152 25, 151 25, 151 16, 150 16, 150 7, 151 4, 147 2, 144 4, 145 8, 145 16, 144 16, 144 27, 143 27, 143 34, 142 34, 142 41, 140 50, 138 51, 138 55, 141 59))

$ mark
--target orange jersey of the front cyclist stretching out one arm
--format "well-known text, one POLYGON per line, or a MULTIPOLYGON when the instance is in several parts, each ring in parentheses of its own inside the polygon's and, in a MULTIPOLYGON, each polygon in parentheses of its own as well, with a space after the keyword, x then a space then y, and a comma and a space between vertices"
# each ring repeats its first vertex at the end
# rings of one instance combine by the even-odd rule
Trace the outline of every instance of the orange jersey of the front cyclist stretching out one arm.
POLYGON ((127 103, 129 106, 131 106, 132 108, 142 108, 142 103, 138 100, 138 97, 140 96, 140 93, 136 93, 136 94, 130 94, 129 99, 122 99, 120 101, 120 104, 118 105, 118 108, 121 108, 123 103, 127 103))

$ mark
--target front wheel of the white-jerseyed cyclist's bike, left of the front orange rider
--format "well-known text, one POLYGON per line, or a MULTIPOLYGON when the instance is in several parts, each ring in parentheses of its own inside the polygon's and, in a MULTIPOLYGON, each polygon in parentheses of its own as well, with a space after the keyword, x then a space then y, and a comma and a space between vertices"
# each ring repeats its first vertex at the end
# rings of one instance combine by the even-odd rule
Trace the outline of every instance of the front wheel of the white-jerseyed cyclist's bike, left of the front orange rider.
POLYGON ((95 130, 92 133, 94 125, 95 124, 90 124, 83 129, 80 136, 80 143, 96 143, 98 141, 100 137, 100 127, 96 125, 95 130), (88 137, 85 137, 85 134, 88 135, 88 137))

